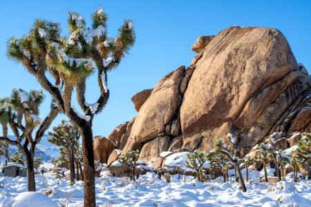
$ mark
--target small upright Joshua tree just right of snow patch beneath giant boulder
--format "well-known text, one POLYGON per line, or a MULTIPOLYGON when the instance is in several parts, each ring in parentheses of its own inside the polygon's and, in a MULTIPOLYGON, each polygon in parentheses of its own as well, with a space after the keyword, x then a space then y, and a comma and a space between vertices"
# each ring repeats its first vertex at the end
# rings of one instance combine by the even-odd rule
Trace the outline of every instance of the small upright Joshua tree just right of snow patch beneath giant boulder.
POLYGON ((196 177, 198 177, 198 181, 205 181, 205 177, 203 175, 204 170, 202 170, 205 161, 207 161, 207 155, 205 152, 198 152, 195 150, 194 152, 187 154, 188 160, 186 161, 186 167, 196 170, 196 177))

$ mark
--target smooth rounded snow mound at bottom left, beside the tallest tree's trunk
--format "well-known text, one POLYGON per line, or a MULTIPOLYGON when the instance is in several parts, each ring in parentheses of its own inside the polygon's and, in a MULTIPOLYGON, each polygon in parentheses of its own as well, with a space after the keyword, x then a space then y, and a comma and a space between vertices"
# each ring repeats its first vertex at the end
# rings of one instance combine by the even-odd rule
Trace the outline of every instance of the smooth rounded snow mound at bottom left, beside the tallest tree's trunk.
POLYGON ((24 192, 20 193, 12 199, 14 202, 12 207, 25 207, 25 206, 32 206, 32 207, 56 207, 57 204, 55 201, 50 199, 48 196, 38 193, 38 192, 24 192))

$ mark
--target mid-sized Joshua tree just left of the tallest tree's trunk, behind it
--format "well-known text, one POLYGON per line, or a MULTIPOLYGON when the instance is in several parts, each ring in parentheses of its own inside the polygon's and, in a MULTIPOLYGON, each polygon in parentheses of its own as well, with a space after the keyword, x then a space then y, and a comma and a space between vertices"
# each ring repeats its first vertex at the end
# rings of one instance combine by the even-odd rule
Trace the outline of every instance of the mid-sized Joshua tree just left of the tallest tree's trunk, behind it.
POLYGON ((77 126, 63 120, 62 124, 53 127, 53 132, 48 132, 48 141, 66 150, 70 165, 70 183, 75 183, 75 150, 77 149, 80 131, 77 126))

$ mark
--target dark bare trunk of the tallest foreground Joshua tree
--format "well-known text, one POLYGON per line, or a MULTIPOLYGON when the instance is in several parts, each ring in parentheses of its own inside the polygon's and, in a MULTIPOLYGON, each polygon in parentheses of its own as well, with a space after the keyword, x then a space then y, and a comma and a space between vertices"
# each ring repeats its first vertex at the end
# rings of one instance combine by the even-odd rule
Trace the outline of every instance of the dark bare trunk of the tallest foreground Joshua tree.
POLYGON ((92 124, 86 122, 80 126, 82 130, 83 175, 84 175, 84 207, 95 207, 95 166, 93 150, 92 124))

